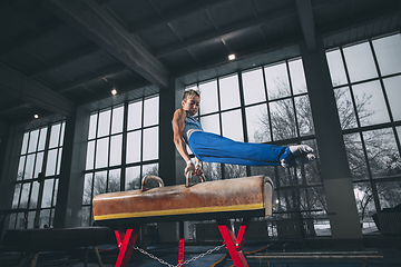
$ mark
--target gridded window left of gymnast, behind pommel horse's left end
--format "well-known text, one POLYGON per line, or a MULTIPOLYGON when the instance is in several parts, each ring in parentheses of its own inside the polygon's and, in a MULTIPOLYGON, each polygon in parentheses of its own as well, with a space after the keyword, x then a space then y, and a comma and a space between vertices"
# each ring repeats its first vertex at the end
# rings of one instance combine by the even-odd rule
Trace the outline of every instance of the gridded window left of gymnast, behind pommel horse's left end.
POLYGON ((82 225, 91 224, 91 199, 138 189, 145 175, 158 175, 159 98, 139 99, 90 116, 82 225))

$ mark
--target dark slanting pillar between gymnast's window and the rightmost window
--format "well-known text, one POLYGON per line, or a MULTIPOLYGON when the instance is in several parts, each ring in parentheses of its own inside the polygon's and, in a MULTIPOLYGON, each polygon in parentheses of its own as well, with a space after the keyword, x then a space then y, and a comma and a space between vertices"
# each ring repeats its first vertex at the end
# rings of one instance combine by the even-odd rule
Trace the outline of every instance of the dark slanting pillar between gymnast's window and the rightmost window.
POLYGON ((301 53, 332 238, 340 246, 362 246, 351 172, 322 39, 317 40, 317 49, 313 52, 307 51, 305 43, 302 43, 301 53))

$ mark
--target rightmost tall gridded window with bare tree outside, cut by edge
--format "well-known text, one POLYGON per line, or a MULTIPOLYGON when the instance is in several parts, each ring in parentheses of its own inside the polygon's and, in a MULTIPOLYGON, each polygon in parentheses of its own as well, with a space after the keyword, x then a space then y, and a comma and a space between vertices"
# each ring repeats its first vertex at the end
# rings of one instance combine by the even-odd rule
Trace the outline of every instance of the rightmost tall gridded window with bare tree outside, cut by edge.
POLYGON ((363 231, 401 204, 401 36, 326 52, 363 231))

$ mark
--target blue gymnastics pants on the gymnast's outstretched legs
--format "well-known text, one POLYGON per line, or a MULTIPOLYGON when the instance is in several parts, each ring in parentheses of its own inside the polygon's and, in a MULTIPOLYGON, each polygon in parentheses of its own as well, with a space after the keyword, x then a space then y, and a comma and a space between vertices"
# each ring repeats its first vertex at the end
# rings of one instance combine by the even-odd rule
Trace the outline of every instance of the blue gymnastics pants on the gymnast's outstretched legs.
POLYGON ((280 165, 280 159, 288 152, 286 147, 238 142, 205 131, 194 131, 189 137, 188 146, 204 162, 244 166, 280 165))

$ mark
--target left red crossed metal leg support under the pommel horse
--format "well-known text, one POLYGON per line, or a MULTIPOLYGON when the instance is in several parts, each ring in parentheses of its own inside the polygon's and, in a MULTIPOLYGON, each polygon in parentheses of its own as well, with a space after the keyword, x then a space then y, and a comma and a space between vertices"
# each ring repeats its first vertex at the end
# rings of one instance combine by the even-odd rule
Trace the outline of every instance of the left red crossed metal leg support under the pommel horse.
POLYGON ((129 264, 130 256, 134 251, 134 245, 139 235, 139 225, 133 227, 133 229, 127 229, 126 231, 123 228, 115 230, 119 254, 116 261, 116 267, 127 267, 129 264))

